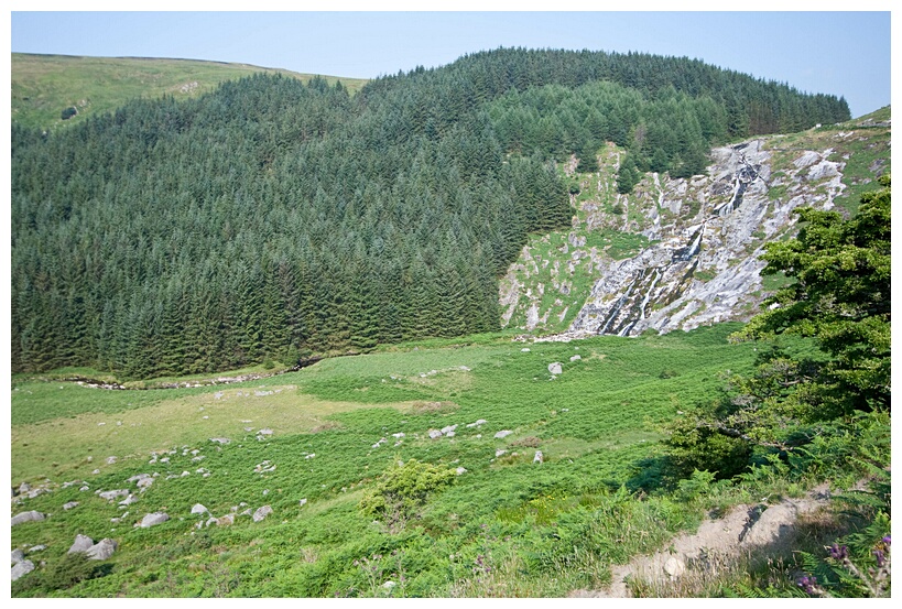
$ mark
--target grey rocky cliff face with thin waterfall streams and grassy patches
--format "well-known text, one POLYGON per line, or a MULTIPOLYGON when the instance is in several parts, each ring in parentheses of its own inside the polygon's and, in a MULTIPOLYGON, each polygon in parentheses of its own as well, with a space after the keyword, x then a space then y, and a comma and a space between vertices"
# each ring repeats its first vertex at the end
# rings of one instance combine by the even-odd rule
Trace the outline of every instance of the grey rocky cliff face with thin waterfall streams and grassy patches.
POLYGON ((524 248, 502 281, 502 322, 566 340, 747 320, 781 279, 762 283, 763 246, 795 233, 797 207, 834 207, 850 150, 873 135, 754 139, 711 151, 705 176, 651 174, 629 196, 607 149, 600 172, 567 171, 582 189, 573 230, 524 248))

